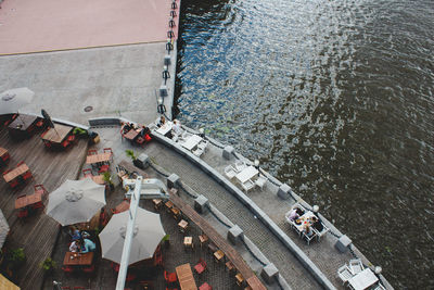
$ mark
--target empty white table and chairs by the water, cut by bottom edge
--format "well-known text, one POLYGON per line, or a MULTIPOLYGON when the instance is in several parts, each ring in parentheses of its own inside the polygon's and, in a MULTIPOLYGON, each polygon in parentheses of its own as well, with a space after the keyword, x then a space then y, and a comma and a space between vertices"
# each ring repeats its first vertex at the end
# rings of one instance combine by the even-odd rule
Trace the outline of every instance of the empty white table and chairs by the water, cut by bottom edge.
POLYGON ((360 260, 350 260, 348 264, 337 269, 337 276, 344 286, 354 290, 385 289, 376 275, 368 267, 365 267, 360 260))

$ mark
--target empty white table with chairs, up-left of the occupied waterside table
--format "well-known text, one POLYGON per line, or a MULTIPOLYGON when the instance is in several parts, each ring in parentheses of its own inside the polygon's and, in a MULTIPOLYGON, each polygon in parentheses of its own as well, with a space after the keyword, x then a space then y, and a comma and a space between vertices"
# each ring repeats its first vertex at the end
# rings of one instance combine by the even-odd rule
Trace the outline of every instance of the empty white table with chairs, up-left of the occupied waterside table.
POLYGON ((238 160, 234 164, 226 166, 225 175, 229 180, 240 186, 245 193, 255 187, 264 190, 268 181, 267 177, 261 175, 255 166, 248 165, 242 160, 238 160))

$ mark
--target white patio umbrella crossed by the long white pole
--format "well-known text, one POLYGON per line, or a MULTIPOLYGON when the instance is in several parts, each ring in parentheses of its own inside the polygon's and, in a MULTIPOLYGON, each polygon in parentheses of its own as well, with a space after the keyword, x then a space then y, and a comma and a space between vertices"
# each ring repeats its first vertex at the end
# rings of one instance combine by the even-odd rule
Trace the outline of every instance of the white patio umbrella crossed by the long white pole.
MULTIPOLYGON (((100 234, 102 257, 118 264, 123 254, 128 215, 129 211, 114 214, 100 234)), ((138 207, 128 265, 152 257, 165 235, 159 214, 138 207)))

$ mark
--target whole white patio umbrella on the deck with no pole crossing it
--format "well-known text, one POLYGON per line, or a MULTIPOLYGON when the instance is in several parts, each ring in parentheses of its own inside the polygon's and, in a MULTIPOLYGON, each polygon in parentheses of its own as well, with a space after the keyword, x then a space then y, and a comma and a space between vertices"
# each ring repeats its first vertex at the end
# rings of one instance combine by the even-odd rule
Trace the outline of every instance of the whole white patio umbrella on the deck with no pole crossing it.
POLYGON ((92 179, 67 179, 50 193, 47 214, 62 226, 89 222, 105 205, 104 186, 92 179))

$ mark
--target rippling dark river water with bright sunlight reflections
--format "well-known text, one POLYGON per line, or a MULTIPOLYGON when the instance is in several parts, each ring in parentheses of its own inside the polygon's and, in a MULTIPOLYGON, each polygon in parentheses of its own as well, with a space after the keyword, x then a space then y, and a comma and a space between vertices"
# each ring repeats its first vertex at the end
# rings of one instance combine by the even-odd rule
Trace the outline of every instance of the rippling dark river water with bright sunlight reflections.
POLYGON ((183 0, 178 118, 434 289, 433 0, 183 0))

